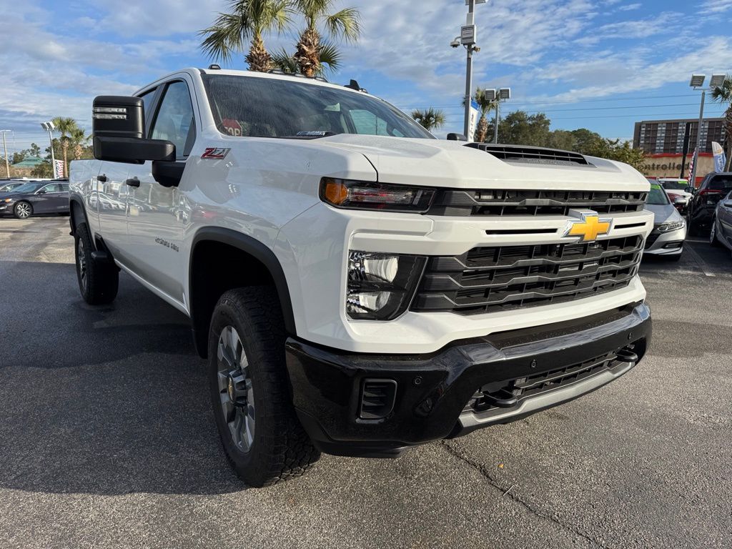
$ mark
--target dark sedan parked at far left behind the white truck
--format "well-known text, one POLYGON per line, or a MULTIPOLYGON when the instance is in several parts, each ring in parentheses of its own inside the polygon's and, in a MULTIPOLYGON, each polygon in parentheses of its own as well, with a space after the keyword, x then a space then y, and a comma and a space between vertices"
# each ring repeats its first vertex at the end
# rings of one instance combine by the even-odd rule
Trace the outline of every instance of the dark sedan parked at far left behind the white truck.
POLYGON ((32 182, 0 194, 0 215, 27 219, 33 214, 68 214, 69 184, 59 181, 32 182))

